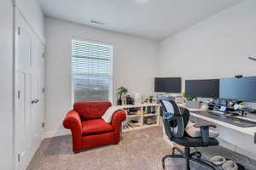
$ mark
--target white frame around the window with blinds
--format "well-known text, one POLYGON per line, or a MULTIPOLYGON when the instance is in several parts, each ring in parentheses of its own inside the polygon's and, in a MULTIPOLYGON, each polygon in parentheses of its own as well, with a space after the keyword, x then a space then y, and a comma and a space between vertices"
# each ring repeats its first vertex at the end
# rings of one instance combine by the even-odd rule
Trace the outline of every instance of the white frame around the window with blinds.
POLYGON ((69 39, 69 47, 70 47, 70 82, 71 82, 71 107, 74 104, 74 87, 73 87, 73 67, 72 67, 72 41, 80 41, 80 42, 89 42, 99 45, 104 45, 110 47, 110 56, 109 56, 109 102, 113 103, 113 44, 110 42, 102 42, 98 40, 92 40, 88 38, 81 38, 81 37, 71 37, 69 39))

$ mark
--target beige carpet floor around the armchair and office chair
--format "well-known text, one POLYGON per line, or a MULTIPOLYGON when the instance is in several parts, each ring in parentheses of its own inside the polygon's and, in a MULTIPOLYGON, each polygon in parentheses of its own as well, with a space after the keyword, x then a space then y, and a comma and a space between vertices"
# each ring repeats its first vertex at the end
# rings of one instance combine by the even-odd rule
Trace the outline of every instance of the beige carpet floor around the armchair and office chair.
MULTIPOLYGON (((160 170, 161 158, 172 153, 170 144, 162 135, 161 127, 122 133, 119 144, 84 150, 78 154, 72 152, 72 139, 69 135, 44 139, 27 170, 160 170)), ((255 170, 256 164, 253 161, 222 147, 209 147, 203 151, 206 156, 221 155, 219 152, 224 156, 228 153, 228 156, 242 160, 248 170, 255 170)), ((166 159, 166 170, 183 169, 183 159, 166 159)), ((191 169, 207 170, 192 162, 191 169)))

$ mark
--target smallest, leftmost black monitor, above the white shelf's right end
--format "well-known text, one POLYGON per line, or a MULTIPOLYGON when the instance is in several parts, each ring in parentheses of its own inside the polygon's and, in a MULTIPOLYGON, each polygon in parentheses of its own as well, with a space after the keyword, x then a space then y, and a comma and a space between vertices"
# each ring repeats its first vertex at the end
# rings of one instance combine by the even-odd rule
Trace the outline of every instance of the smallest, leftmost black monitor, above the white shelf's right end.
POLYGON ((181 93, 181 77, 154 78, 154 92, 181 93))

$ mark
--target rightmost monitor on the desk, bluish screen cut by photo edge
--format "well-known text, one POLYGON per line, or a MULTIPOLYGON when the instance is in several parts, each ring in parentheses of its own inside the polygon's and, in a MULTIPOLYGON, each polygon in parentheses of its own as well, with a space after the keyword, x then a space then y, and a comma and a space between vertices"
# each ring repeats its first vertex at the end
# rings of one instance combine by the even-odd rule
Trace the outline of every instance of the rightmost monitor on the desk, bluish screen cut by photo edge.
POLYGON ((222 78, 219 98, 241 101, 256 101, 256 77, 222 78))

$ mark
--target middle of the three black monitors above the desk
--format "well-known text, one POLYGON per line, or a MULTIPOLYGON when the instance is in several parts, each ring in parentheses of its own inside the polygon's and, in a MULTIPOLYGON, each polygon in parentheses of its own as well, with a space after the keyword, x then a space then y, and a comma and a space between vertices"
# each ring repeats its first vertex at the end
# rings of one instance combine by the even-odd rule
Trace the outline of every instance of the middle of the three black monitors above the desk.
POLYGON ((185 95, 189 97, 218 98, 219 79, 186 80, 185 95))

